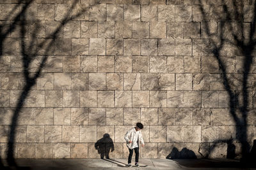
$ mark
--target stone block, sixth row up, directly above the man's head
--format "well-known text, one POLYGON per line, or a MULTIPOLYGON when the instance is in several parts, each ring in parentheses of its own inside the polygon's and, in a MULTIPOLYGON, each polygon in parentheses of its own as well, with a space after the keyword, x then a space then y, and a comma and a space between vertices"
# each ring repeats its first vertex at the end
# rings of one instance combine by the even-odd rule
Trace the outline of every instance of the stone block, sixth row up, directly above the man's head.
POLYGON ((149 69, 148 56, 132 56, 132 72, 133 73, 148 73, 149 69))

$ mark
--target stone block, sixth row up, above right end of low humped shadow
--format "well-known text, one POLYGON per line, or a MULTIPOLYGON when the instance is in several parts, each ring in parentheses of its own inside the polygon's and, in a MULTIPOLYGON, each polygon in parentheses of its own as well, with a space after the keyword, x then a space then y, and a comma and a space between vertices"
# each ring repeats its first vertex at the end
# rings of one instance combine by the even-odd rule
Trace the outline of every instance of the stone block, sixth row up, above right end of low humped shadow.
POLYGON ((184 57, 184 72, 185 73, 200 73, 200 56, 185 56, 184 57))

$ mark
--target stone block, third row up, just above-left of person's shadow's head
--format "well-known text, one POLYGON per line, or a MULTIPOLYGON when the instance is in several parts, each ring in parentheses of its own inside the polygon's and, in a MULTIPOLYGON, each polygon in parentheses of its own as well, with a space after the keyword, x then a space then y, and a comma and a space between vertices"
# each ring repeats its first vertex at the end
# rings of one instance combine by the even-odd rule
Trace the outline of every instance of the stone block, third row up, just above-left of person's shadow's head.
POLYGON ((89 108, 89 125, 106 125, 106 109, 89 108))

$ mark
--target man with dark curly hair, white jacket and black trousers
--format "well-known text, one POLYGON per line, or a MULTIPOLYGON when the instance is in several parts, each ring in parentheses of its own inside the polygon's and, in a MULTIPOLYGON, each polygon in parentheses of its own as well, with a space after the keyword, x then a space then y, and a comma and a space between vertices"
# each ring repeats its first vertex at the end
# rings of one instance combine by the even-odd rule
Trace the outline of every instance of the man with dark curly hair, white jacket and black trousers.
POLYGON ((126 141, 126 145, 129 148, 129 157, 128 157, 128 164, 127 166, 130 167, 131 166, 131 161, 132 161, 132 154, 133 154, 133 150, 135 152, 135 166, 139 167, 139 145, 141 143, 141 146, 144 146, 144 141, 142 138, 142 134, 141 134, 141 129, 143 129, 143 124, 141 124, 140 122, 138 122, 136 124, 136 127, 133 127, 132 129, 130 129, 129 131, 126 132, 124 139, 126 141))

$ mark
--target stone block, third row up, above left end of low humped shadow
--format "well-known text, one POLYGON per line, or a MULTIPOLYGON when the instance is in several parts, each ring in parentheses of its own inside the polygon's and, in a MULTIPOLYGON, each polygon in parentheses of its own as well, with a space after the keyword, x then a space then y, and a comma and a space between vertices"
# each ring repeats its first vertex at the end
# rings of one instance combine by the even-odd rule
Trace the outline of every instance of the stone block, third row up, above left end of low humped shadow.
POLYGON ((158 110, 159 125, 175 125, 175 108, 160 108, 158 110))

